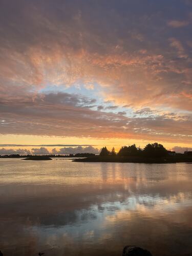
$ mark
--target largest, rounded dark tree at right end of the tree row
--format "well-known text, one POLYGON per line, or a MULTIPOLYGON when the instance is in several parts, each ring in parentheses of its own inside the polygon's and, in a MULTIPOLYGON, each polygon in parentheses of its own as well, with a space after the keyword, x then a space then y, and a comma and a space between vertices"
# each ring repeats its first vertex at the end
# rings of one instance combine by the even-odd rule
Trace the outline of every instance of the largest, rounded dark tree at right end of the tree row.
POLYGON ((167 150, 163 145, 156 142, 147 144, 144 147, 143 154, 147 157, 164 157, 167 155, 167 150))

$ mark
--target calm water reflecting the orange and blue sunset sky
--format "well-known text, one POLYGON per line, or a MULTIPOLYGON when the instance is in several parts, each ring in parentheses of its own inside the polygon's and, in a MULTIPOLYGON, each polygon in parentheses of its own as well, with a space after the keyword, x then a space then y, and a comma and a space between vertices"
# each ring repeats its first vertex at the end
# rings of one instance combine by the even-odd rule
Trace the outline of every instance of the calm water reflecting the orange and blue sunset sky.
POLYGON ((0 160, 4 255, 192 255, 192 164, 0 160))

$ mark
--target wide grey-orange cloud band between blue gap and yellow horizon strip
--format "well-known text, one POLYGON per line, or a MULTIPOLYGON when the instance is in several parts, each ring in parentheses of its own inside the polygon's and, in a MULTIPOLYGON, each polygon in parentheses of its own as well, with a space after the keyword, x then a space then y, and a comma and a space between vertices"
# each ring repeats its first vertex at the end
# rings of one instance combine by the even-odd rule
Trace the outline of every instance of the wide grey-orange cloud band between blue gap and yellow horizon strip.
POLYGON ((28 97, 27 101, 2 99, 1 115, 5 121, 0 122, 1 133, 176 142, 191 138, 192 120, 189 114, 144 109, 129 117, 122 113, 93 110, 84 106, 87 102, 95 100, 66 93, 40 94, 31 99, 28 97))

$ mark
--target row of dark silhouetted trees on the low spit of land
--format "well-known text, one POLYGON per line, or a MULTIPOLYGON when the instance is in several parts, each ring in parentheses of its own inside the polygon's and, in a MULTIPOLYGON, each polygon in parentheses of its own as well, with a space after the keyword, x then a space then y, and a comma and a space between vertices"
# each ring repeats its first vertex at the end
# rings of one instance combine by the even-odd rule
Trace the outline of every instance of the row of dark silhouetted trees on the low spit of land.
POLYGON ((143 150, 140 147, 136 147, 136 144, 131 146, 122 146, 118 153, 116 153, 115 148, 109 151, 106 146, 102 148, 100 156, 120 156, 120 157, 164 157, 168 154, 166 148, 159 143, 149 143, 143 150))

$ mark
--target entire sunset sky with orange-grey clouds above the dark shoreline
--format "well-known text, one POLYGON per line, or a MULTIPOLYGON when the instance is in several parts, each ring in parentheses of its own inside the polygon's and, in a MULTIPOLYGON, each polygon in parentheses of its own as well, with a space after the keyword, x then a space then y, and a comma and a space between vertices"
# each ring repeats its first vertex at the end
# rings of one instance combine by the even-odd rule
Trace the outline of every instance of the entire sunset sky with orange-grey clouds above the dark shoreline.
POLYGON ((0 152, 190 149, 191 24, 191 0, 0 0, 0 152))

